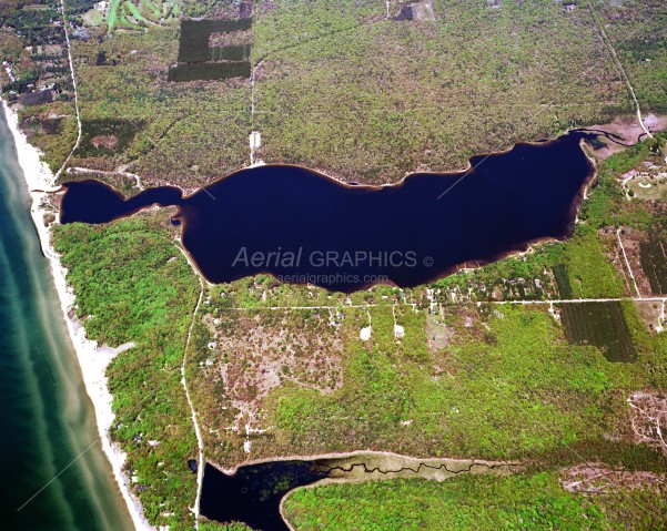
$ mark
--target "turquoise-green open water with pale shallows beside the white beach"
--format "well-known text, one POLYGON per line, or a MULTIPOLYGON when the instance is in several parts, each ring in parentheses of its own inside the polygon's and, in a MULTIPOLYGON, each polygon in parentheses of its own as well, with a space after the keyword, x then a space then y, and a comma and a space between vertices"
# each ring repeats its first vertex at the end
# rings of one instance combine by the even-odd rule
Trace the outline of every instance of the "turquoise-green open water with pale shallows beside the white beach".
POLYGON ((130 530, 29 208, 0 111, 0 529, 130 530))

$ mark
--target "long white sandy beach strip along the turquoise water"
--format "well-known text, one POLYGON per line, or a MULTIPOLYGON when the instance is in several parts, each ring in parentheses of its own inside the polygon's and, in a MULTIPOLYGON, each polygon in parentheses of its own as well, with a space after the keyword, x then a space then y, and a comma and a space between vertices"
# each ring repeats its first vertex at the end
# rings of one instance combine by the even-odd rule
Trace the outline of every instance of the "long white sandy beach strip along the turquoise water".
POLYGON ((17 145, 19 164, 21 165, 26 184, 28 185, 30 196, 32 197, 30 214, 34 226, 37 227, 42 252, 49 261, 53 284, 58 292, 62 315, 77 353, 77 359, 79 361, 85 390, 94 407, 95 422, 102 449, 111 463, 113 476, 120 487, 135 529, 153 530, 154 528, 148 523, 143 515, 141 503, 131 493, 129 480, 123 473, 123 464, 127 457, 118 445, 111 442, 109 437, 109 428, 115 416, 111 408, 112 397, 107 387, 104 374, 113 357, 117 354, 131 348, 132 345, 122 345, 115 349, 108 346, 98 347, 97 341, 91 341, 85 337, 85 331, 78 320, 75 318, 70 318, 70 308, 75 304, 74 294, 67 284, 67 269, 62 267, 59 255, 51 247, 49 227, 44 226, 43 223, 46 213, 43 205, 48 197, 46 191, 54 190, 54 176, 47 164, 41 161, 40 151, 30 145, 26 136, 20 132, 17 112, 11 109, 6 101, 2 101, 2 108, 17 145))

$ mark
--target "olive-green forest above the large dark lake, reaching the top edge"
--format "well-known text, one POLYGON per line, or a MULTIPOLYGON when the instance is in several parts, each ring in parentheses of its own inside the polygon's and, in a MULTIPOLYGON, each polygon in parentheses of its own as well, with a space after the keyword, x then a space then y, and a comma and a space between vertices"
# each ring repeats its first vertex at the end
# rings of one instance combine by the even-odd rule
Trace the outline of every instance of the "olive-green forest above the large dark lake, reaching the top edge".
MULTIPOLYGON (((108 24, 89 23, 68 7, 74 28, 84 29, 72 34, 84 131, 122 119, 140 132, 103 155, 78 153, 72 165, 129 166, 146 183, 191 190, 246 165, 247 135, 256 130, 257 155, 267 163, 386 183, 631 114, 626 78, 645 114, 666 109, 659 1, 578 2, 573 10, 552 1, 494 6, 435 1, 432 17, 396 20, 386 18, 383 2, 256 2, 252 80, 244 68, 240 78, 185 83, 168 81, 175 23, 109 33, 108 24), (607 27, 625 73, 600 38, 607 27)), ((231 19, 241 4, 183 9, 231 19)), ((390 2, 390 13, 398 10, 390 2)), ((43 125, 51 114, 40 105, 27 119, 43 125)), ((55 167, 64 150, 48 131, 37 133, 33 141, 55 167)))

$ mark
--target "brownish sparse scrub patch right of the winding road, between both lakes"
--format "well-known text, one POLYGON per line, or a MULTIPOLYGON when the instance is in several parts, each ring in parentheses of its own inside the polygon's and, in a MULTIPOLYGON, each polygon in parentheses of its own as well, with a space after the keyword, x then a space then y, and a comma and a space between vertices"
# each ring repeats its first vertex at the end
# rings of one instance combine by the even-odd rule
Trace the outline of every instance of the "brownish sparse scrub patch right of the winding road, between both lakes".
POLYGON ((327 394, 342 386, 340 321, 326 310, 204 317, 212 340, 210 355, 195 369, 195 386, 211 459, 221 445, 242 459, 242 438, 269 428, 265 398, 272 389, 297 386, 327 394))

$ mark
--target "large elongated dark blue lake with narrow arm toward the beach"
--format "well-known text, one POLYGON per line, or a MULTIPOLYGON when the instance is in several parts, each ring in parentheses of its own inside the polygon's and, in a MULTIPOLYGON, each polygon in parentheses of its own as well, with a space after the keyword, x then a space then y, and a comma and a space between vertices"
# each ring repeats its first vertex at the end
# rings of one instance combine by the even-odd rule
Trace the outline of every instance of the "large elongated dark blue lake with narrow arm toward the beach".
POLYGON ((178 205, 183 245, 212 283, 270 273, 340 292, 411 287, 568 237, 594 175, 584 136, 517 144, 471 159, 466 172, 415 173, 384 187, 287 165, 242 170, 185 197, 165 186, 124 200, 97 181, 70 182, 61 222, 178 205))

